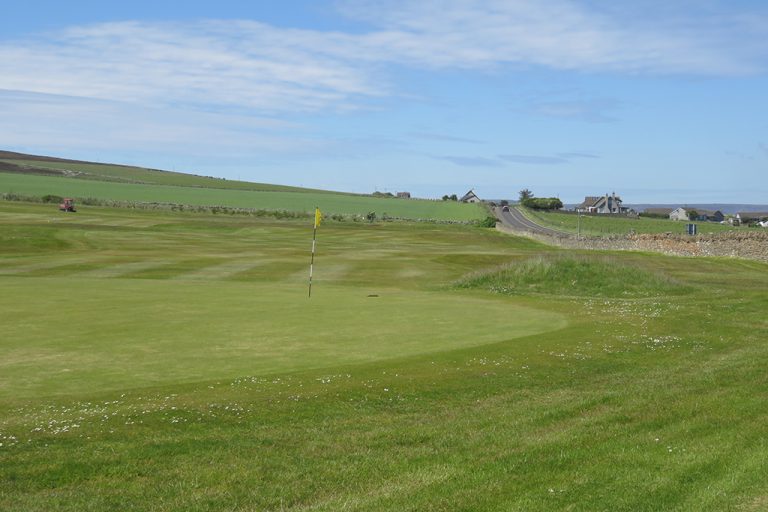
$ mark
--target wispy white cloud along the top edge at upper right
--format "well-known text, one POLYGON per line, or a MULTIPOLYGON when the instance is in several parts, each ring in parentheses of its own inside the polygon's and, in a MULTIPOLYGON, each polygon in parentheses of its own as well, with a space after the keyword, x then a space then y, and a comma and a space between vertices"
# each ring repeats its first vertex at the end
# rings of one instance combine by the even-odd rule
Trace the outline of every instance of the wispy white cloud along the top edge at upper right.
POLYGON ((603 13, 573 0, 355 0, 342 5, 347 14, 386 27, 368 36, 371 46, 378 42, 392 58, 433 67, 507 63, 721 75, 763 71, 768 49, 768 17, 736 16, 732 9, 668 19, 653 10, 641 18, 620 10, 603 13))

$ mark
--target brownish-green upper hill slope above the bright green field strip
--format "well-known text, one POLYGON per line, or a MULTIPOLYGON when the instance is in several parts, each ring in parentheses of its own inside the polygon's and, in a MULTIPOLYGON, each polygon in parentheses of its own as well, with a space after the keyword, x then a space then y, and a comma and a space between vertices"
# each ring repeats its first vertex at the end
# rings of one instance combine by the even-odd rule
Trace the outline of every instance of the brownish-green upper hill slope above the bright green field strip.
POLYGON ((285 185, 227 180, 210 176, 198 176, 195 174, 162 171, 159 169, 148 169, 128 165, 104 164, 49 156, 27 155, 12 151, 0 151, 0 172, 36 174, 40 176, 60 176, 65 178, 141 185, 172 185, 177 187, 254 190, 260 192, 341 193, 285 185))

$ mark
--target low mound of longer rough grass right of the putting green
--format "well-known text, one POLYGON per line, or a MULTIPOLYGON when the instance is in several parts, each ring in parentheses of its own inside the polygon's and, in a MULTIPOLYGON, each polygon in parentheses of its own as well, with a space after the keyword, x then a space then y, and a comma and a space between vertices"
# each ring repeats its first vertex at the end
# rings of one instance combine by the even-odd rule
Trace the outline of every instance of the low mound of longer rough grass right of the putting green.
POLYGON ((691 291, 689 286, 663 274, 611 258, 586 256, 538 256, 470 274, 457 286, 510 295, 543 293, 630 298, 691 291))

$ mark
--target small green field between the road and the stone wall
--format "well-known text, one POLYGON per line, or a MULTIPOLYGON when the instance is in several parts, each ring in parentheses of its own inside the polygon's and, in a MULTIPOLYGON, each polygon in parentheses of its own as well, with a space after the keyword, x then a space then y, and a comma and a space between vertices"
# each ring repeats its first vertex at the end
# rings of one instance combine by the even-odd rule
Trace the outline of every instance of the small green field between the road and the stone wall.
MULTIPOLYGON (((573 215, 568 213, 534 211, 522 208, 521 211, 542 226, 551 227, 567 233, 577 233, 581 223, 581 234, 590 236, 626 235, 628 233, 685 233, 685 222, 653 219, 647 217, 612 217, 605 215, 573 215)), ((716 222, 695 222, 700 234, 721 233, 735 228, 716 222)))

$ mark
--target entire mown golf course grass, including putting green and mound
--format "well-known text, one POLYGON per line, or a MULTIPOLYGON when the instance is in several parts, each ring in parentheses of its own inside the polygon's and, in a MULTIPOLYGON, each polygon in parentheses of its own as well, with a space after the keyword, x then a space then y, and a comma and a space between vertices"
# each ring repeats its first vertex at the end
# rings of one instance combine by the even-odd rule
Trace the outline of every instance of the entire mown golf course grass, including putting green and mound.
POLYGON ((0 202, 0 510, 768 507, 768 265, 311 231, 0 202))

